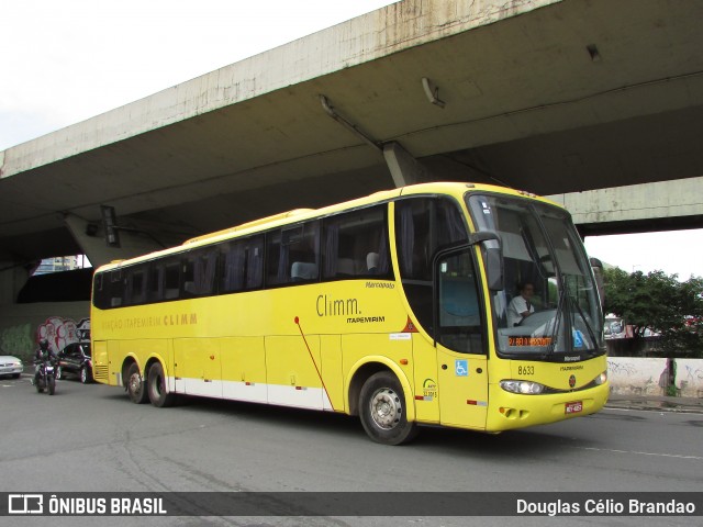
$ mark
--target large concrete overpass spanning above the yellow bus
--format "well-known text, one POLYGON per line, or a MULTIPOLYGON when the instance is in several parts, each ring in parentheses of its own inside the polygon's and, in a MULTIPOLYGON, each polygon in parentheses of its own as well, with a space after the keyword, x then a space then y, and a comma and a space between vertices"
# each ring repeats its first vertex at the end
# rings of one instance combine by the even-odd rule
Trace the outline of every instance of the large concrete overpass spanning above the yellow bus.
POLYGON ((408 177, 398 161, 411 179, 585 197, 592 232, 598 193, 682 186, 685 210, 607 229, 700 225, 702 15, 666 0, 405 0, 1 152, 0 300, 40 258, 101 262, 367 194, 408 177), (107 249, 90 227, 101 204, 148 236, 107 249))

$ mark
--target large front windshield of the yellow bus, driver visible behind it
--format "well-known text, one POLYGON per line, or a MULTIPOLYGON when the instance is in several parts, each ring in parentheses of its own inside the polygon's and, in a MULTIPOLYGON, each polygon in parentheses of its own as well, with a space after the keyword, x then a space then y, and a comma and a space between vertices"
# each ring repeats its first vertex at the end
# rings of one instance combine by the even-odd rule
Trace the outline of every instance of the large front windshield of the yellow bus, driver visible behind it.
POLYGON ((478 231, 498 233, 504 289, 491 293, 496 352, 567 362, 602 355, 593 274, 567 212, 544 203, 471 195, 478 231))

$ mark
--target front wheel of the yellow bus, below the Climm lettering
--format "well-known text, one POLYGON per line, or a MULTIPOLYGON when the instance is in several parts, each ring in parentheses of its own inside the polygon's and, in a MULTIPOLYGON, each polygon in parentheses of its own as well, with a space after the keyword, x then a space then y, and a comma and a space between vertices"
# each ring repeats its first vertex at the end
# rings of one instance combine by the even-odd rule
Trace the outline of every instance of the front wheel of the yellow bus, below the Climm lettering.
POLYGON ((402 445, 417 435, 417 425, 408 422, 403 388, 388 371, 379 371, 364 383, 359 416, 368 436, 382 445, 402 445))

